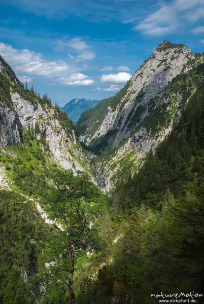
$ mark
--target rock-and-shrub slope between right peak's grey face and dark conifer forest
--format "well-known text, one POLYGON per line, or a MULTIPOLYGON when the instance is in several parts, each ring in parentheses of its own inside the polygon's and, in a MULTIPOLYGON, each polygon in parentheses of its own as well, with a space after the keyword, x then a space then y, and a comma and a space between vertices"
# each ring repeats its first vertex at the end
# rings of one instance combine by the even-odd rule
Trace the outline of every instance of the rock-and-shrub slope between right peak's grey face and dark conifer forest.
POLYGON ((178 122, 189 100, 204 85, 204 64, 188 73, 178 75, 158 99, 153 109, 128 139, 117 149, 110 150, 95 160, 98 178, 110 191, 120 179, 126 180, 139 171, 150 151, 166 139, 178 122))

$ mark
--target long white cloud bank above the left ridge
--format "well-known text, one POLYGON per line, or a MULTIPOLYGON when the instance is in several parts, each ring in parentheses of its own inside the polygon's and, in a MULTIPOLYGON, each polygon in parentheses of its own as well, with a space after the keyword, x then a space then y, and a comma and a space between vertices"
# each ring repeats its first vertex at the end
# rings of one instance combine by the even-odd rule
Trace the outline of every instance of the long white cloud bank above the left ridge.
MULTIPOLYGON (((35 53, 27 49, 18 50, 10 45, 0 43, 0 54, 19 73, 18 77, 21 81, 30 82, 30 75, 38 75, 63 84, 65 84, 62 81, 64 78, 69 78, 70 83, 83 80, 81 85, 84 85, 85 78, 88 78, 86 75, 79 73, 80 68, 74 64, 67 64, 63 60, 47 61, 41 53, 35 53), (22 75, 25 73, 28 75, 22 75)), ((90 80, 86 83, 91 84, 90 80)), ((79 82, 76 84, 80 85, 79 82)))

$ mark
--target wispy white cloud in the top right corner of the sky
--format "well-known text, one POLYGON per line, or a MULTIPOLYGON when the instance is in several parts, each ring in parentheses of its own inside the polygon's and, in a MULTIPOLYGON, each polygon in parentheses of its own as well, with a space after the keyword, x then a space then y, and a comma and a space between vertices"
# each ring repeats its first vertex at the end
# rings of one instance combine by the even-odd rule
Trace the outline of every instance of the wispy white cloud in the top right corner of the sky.
POLYGON ((174 0, 162 3, 160 9, 145 18, 133 29, 144 35, 160 36, 173 33, 182 28, 187 22, 195 22, 204 17, 203 0, 174 0))

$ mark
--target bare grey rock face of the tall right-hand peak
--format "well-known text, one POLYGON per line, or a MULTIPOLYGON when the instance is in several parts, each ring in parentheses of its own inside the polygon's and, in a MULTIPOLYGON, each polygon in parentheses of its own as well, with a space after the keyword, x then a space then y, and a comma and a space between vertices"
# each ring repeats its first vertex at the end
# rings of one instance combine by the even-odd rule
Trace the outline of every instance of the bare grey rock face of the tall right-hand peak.
POLYGON ((110 146, 117 147, 126 139, 151 110, 151 104, 158 94, 181 72, 187 72, 196 64, 195 54, 184 45, 162 42, 153 55, 144 61, 134 73, 126 94, 116 108, 109 107, 103 122, 92 134, 91 126, 80 139, 90 144, 95 138, 118 130, 111 138, 110 146), (90 136, 91 134, 91 136, 90 136))

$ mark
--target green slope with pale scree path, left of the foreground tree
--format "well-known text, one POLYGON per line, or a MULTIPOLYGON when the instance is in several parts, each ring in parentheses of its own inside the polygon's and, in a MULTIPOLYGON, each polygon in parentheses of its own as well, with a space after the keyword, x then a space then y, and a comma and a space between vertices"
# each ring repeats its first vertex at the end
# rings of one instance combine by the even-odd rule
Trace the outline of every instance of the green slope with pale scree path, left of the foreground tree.
MULTIPOLYGON (((63 229, 61 222, 48 218, 56 160, 42 138, 25 129, 22 139, 21 145, 0 149, 0 302, 67 303, 66 288, 52 282, 49 272, 52 244, 59 245, 57 232, 63 229)), ((90 193, 97 197, 94 211, 105 208, 106 198, 93 184, 90 193)), ((76 285, 85 260, 88 256, 80 261, 76 285)))

